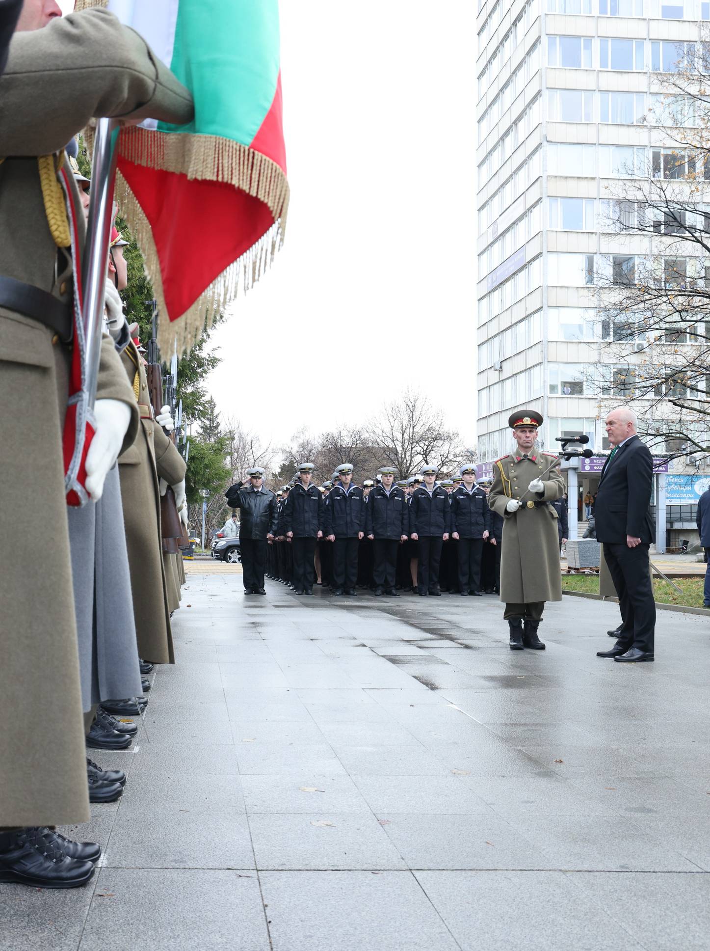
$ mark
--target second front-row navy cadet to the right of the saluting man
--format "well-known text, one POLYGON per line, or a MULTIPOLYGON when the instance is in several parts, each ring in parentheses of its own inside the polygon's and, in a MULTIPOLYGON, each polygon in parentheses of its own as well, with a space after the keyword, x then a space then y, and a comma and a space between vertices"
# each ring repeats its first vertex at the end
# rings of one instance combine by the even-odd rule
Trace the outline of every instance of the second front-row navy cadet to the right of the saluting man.
POLYGON ((333 546, 333 593, 355 594, 358 541, 365 534, 365 496, 353 483, 353 466, 336 469, 339 482, 325 506, 325 534, 333 546))

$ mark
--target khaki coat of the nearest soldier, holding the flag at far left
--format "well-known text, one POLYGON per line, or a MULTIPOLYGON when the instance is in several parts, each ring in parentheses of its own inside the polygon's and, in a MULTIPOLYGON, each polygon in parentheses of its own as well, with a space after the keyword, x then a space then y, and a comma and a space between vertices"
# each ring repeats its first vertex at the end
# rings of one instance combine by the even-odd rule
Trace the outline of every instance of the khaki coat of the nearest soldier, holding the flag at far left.
MULTIPOLYGON (((182 124, 192 104, 106 10, 14 36, 0 77, 0 274, 58 298, 70 293, 55 279, 67 257, 49 233, 36 156, 63 149, 97 115, 182 124)), ((72 200, 83 241, 73 182, 72 200)), ((0 585, 0 825, 89 817, 61 443, 67 357, 43 324, 0 307, 0 530, 11 550, 0 585), (38 511, 43 531, 30 538, 38 511)), ((114 395, 117 359, 109 341, 99 398, 114 395)))

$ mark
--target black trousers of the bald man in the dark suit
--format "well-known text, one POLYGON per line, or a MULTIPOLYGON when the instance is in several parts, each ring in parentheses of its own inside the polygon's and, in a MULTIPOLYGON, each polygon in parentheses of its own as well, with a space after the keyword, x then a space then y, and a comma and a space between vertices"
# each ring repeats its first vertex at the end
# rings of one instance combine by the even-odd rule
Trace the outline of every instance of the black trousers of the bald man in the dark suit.
POLYGON ((604 542, 604 558, 619 595, 624 621, 620 647, 654 649, 656 603, 648 573, 648 545, 629 548, 625 542, 604 542))

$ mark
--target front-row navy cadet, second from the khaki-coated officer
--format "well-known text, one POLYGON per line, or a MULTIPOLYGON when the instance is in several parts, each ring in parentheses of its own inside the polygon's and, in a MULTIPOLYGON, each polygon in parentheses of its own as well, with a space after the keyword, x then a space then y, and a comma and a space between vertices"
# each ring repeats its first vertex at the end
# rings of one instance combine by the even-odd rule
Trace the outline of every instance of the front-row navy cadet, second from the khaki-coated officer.
POLYGON ((434 485, 436 467, 424 466, 421 474, 424 485, 414 490, 410 504, 410 537, 419 543, 416 587, 422 597, 438 597, 439 562, 451 531, 451 505, 446 489, 434 485))

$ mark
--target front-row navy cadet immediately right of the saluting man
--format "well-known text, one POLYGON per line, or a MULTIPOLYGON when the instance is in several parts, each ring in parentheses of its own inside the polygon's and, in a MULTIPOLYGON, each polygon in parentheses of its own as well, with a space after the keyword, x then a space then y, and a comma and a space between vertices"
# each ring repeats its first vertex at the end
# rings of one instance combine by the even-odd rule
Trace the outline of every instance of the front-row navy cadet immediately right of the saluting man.
POLYGON ((301 462, 297 482, 283 507, 283 529, 294 552, 294 591, 313 594, 316 540, 323 537, 323 496, 311 481, 316 466, 301 462))

